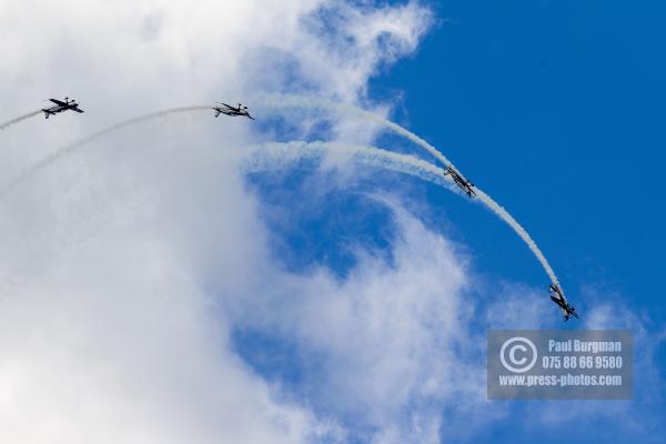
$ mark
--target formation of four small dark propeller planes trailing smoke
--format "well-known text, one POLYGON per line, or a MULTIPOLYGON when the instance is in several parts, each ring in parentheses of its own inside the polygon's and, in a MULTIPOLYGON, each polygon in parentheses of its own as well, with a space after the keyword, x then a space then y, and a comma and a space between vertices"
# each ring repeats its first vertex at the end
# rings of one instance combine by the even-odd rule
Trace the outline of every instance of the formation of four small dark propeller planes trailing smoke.
MULTIPOLYGON (((56 115, 60 112, 68 110, 75 111, 79 113, 83 112, 83 110, 79 108, 79 103, 77 103, 77 101, 73 99, 70 100, 65 97, 64 101, 58 99, 49 100, 53 102, 54 105, 42 109, 47 119, 49 119, 50 115, 56 115)), ((254 120, 254 118, 250 115, 248 107, 243 107, 241 103, 239 103, 238 107, 232 107, 226 103, 218 102, 218 105, 213 107, 212 110, 215 111, 215 118, 218 118, 220 114, 224 114, 229 117, 245 117, 254 120)), ((444 170, 444 175, 451 175, 451 179, 453 179, 454 183, 461 190, 463 190, 465 194, 467 194, 470 198, 476 195, 476 193, 474 192, 474 183, 463 178, 463 175, 456 169, 454 169, 453 165, 446 167, 446 169, 444 170)), ((578 317, 578 314, 576 314, 576 307, 574 307, 566 301, 566 297, 564 296, 564 293, 562 292, 559 285, 554 283, 551 284, 551 300, 555 302, 555 304, 557 304, 559 310, 562 310, 565 321, 568 321, 569 316, 578 317)))

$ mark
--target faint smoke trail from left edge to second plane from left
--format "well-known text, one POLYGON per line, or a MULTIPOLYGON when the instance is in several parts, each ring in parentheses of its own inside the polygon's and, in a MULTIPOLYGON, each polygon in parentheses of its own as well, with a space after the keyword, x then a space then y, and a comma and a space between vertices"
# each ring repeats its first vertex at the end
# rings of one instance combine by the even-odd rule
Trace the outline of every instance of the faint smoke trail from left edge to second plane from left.
POLYGON ((92 133, 83 139, 79 139, 75 142, 72 142, 68 145, 64 145, 64 147, 53 151, 51 154, 49 154, 44 159, 40 160, 39 162, 32 164, 31 167, 29 167, 26 170, 23 170, 22 172, 20 172, 13 180, 11 180, 10 182, 2 185, 2 188, 0 188, 0 199, 4 198, 7 194, 12 192, 13 189, 17 188, 19 184, 21 184, 23 181, 26 181, 27 179, 37 174, 41 170, 50 167, 52 163, 57 162, 59 159, 71 154, 77 149, 79 149, 90 142, 93 142, 97 139, 104 137, 113 131, 118 131, 125 127, 131 127, 131 125, 134 125, 138 123, 142 123, 142 122, 145 122, 145 121, 149 121, 152 119, 159 119, 159 118, 170 115, 170 114, 176 114, 176 113, 181 113, 181 112, 202 111, 202 110, 209 110, 210 108, 211 107, 206 107, 206 105, 196 105, 196 107, 172 108, 172 109, 168 109, 168 110, 163 110, 163 111, 157 111, 157 112, 152 112, 150 114, 139 115, 137 118, 125 120, 123 122, 120 122, 120 123, 117 123, 109 128, 105 128, 103 130, 100 130, 95 133, 92 133))

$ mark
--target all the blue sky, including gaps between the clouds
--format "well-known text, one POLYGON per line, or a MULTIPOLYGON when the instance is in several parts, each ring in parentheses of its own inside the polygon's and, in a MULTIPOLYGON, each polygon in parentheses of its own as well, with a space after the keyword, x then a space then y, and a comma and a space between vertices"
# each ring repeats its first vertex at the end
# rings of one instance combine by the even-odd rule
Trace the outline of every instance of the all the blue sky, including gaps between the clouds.
MULTIPOLYGON (((666 142, 662 129, 666 61, 660 57, 666 42, 660 18, 666 7, 620 1, 428 4, 436 11, 436 26, 413 57, 371 80, 370 101, 393 103, 394 121, 437 147, 518 219, 583 316, 595 304, 612 301, 638 316, 650 335, 663 334, 662 252, 666 245, 660 234, 663 186, 657 181, 666 142)), ((392 142, 379 140, 381 147, 395 148, 389 147, 392 142)), ((342 191, 332 186, 324 192, 324 208, 307 205, 313 183, 331 180, 313 179, 309 171, 302 165, 291 173, 252 180, 269 208, 290 205, 292 210, 286 219, 272 218, 270 210, 264 213, 275 235, 273 248, 290 270, 305 272, 324 264, 344 280, 354 265, 355 250, 349 249, 350 243, 391 263, 391 212, 367 195, 387 192, 411 202, 405 204, 413 205, 411 210, 430 229, 460 242, 485 281, 474 294, 481 306, 483 299, 495 302, 493 293, 507 283, 543 291, 547 301, 547 276, 529 251, 480 205, 387 173, 355 181, 342 191)), ((555 310, 548 314, 558 317, 555 310)), ((618 311, 617 316, 624 314, 618 311)), ((612 320, 609 325, 634 327, 625 321, 612 320)), ((575 322, 563 325, 558 319, 522 323, 521 327, 538 327, 543 322, 553 327, 582 327, 575 322)), ((478 322, 475 333, 490 326, 478 322)), ((278 346, 268 336, 249 332, 239 333, 238 341, 260 372, 293 384, 304 377, 303 367, 294 365, 300 362, 294 347, 278 346), (258 351, 271 351, 270 365, 258 357, 266 353, 258 351)), ((655 418, 666 416, 664 390, 650 384, 663 381, 666 351, 655 336, 640 339, 638 346, 639 356, 652 357, 638 357, 634 401, 613 406, 604 402, 491 403, 484 408, 503 412, 500 418, 480 422, 478 428, 474 420, 461 418, 460 427, 475 431, 452 436, 493 443, 563 438, 620 443, 633 436, 662 442, 664 428, 655 418), (655 380, 654 372, 660 377, 655 380), (562 422, 525 421, 529 412, 542 408, 581 413, 562 422), (627 412, 638 417, 645 414, 645 421, 636 423, 632 417, 623 423, 619 416, 627 412)), ((446 408, 441 406, 443 416, 446 408)))

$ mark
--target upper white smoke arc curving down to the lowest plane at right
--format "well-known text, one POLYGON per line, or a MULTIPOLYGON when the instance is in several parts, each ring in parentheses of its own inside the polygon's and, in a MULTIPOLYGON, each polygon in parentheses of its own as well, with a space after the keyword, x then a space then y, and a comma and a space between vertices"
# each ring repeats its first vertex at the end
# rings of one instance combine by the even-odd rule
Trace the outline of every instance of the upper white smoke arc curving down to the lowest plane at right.
MULTIPOLYGON (((436 148, 434 148, 433 145, 427 143, 425 140, 421 139, 418 135, 404 129, 403 127, 398 125, 397 123, 391 122, 390 120, 387 120, 381 115, 374 114, 370 111, 366 111, 366 110, 363 110, 363 109, 360 109, 360 108, 356 108, 356 107, 353 107, 350 104, 340 104, 340 103, 327 101, 324 99, 310 98, 310 97, 268 95, 268 97, 260 98, 260 100, 262 100, 262 105, 266 107, 269 109, 284 109, 284 108, 321 109, 321 110, 333 111, 333 112, 341 113, 341 114, 355 115, 365 121, 376 123, 383 128, 386 128, 386 129, 395 132, 396 134, 405 137, 410 141, 414 142, 416 145, 423 148, 428 153, 434 155, 444 165, 455 168, 453 165, 453 163, 444 157, 444 154, 442 154, 436 148)), ((536 256, 536 259, 543 266, 544 271, 546 272, 546 274, 548 275, 551 281, 554 284, 558 285, 559 289, 562 290, 562 286, 559 285, 559 281, 557 280, 557 276, 555 275, 553 268, 551 266, 551 264, 544 256, 543 252, 541 251, 541 249, 538 248, 536 242, 534 242, 534 240, 529 236, 527 231, 525 231, 525 229, 503 206, 497 204, 497 202, 495 202, 490 195, 487 195, 485 192, 483 192, 482 190, 480 190, 477 188, 475 188, 475 191, 476 191, 476 194, 480 198, 480 200, 491 211, 493 211, 504 222, 506 222, 516 232, 516 234, 527 244, 527 246, 534 253, 534 255, 536 256)), ((563 293, 564 293, 564 290, 563 290, 563 293)))

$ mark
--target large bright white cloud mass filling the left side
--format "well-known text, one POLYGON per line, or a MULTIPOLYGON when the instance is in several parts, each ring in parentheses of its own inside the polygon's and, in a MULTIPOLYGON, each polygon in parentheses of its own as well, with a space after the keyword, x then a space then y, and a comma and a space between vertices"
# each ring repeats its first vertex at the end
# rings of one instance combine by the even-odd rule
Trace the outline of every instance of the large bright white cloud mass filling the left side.
MULTIPOLYGON (((0 175, 16 176, 128 114, 304 88, 360 100, 379 65, 415 49, 426 20, 414 4, 356 9, 323 0, 1 2, 0 120, 65 94, 85 113, 34 118, 0 133, 0 175), (317 27, 329 13, 344 27, 317 27)), ((246 122, 208 114, 153 122, 90 144, 0 202, 2 440, 344 436, 335 415, 269 384, 230 345, 236 320, 219 302, 265 285, 263 276, 280 269, 266 252, 260 203, 236 171, 233 149, 252 138, 246 122)), ((371 272, 386 285, 391 274, 371 272)), ((361 302, 380 303, 376 295, 361 302)), ((404 303, 421 310, 418 301, 404 303)), ((376 314, 385 329, 391 313, 376 314)), ((401 329, 395 344, 413 329, 418 343, 428 341, 413 320, 401 329)), ((366 346, 379 341, 377 332, 359 333, 366 346)), ((343 353, 340 342, 322 345, 343 353)), ((416 364, 395 353, 386 360, 374 365, 387 379, 427 377, 412 375, 416 364), (386 372, 392 362, 401 363, 398 374, 386 372)), ((395 404, 377 384, 369 393, 395 404)))

